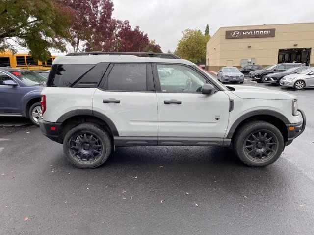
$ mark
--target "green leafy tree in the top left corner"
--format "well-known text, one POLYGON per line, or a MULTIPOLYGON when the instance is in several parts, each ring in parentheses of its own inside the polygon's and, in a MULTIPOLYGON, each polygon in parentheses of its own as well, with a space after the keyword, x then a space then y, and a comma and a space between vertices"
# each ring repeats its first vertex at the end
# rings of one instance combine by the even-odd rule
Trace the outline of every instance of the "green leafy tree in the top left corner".
POLYGON ((25 47, 34 59, 46 61, 49 49, 65 51, 60 39, 68 37, 71 15, 54 0, 1 0, 0 51, 25 47))

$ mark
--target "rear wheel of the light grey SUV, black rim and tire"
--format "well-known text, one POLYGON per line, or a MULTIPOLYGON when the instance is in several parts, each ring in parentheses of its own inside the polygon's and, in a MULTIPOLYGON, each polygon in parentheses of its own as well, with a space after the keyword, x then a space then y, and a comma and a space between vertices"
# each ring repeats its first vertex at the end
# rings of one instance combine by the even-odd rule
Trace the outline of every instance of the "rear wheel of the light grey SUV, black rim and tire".
POLYGON ((93 123, 83 123, 72 128, 63 141, 66 159, 82 169, 92 169, 104 164, 111 150, 109 134, 93 123))

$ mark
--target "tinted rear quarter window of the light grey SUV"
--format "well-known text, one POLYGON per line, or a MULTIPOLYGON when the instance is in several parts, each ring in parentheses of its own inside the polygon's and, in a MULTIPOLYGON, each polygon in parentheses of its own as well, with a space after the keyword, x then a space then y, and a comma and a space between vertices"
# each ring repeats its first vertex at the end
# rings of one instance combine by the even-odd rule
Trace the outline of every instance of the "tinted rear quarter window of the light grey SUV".
POLYGON ((109 63, 52 65, 48 87, 96 88, 109 63))

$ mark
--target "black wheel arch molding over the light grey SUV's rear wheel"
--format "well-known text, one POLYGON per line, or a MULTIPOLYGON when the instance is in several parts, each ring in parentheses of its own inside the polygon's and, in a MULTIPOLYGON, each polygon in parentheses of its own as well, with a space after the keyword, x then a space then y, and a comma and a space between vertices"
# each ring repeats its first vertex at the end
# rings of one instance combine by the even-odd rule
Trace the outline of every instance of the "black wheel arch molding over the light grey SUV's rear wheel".
POLYGON ((70 118, 75 118, 75 117, 94 117, 102 120, 110 129, 111 133, 113 136, 119 136, 119 132, 117 130, 117 127, 113 123, 113 121, 105 116, 104 114, 94 111, 91 109, 77 109, 77 110, 72 110, 69 111, 65 114, 63 114, 60 118, 57 119, 57 123, 64 123, 66 120, 70 118))

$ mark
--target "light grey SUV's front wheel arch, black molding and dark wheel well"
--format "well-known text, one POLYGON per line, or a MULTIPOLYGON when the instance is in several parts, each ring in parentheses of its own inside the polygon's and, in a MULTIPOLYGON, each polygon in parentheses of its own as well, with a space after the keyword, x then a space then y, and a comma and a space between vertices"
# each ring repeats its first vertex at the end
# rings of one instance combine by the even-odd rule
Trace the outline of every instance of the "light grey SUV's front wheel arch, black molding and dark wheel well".
POLYGON ((269 122, 270 124, 273 124, 280 130, 284 137, 285 142, 288 141, 288 129, 286 125, 291 123, 288 120, 288 118, 286 118, 284 115, 273 110, 251 111, 241 116, 240 118, 236 119, 236 121, 233 123, 227 134, 227 138, 232 139, 234 134, 243 124, 254 120, 266 121, 269 122))

